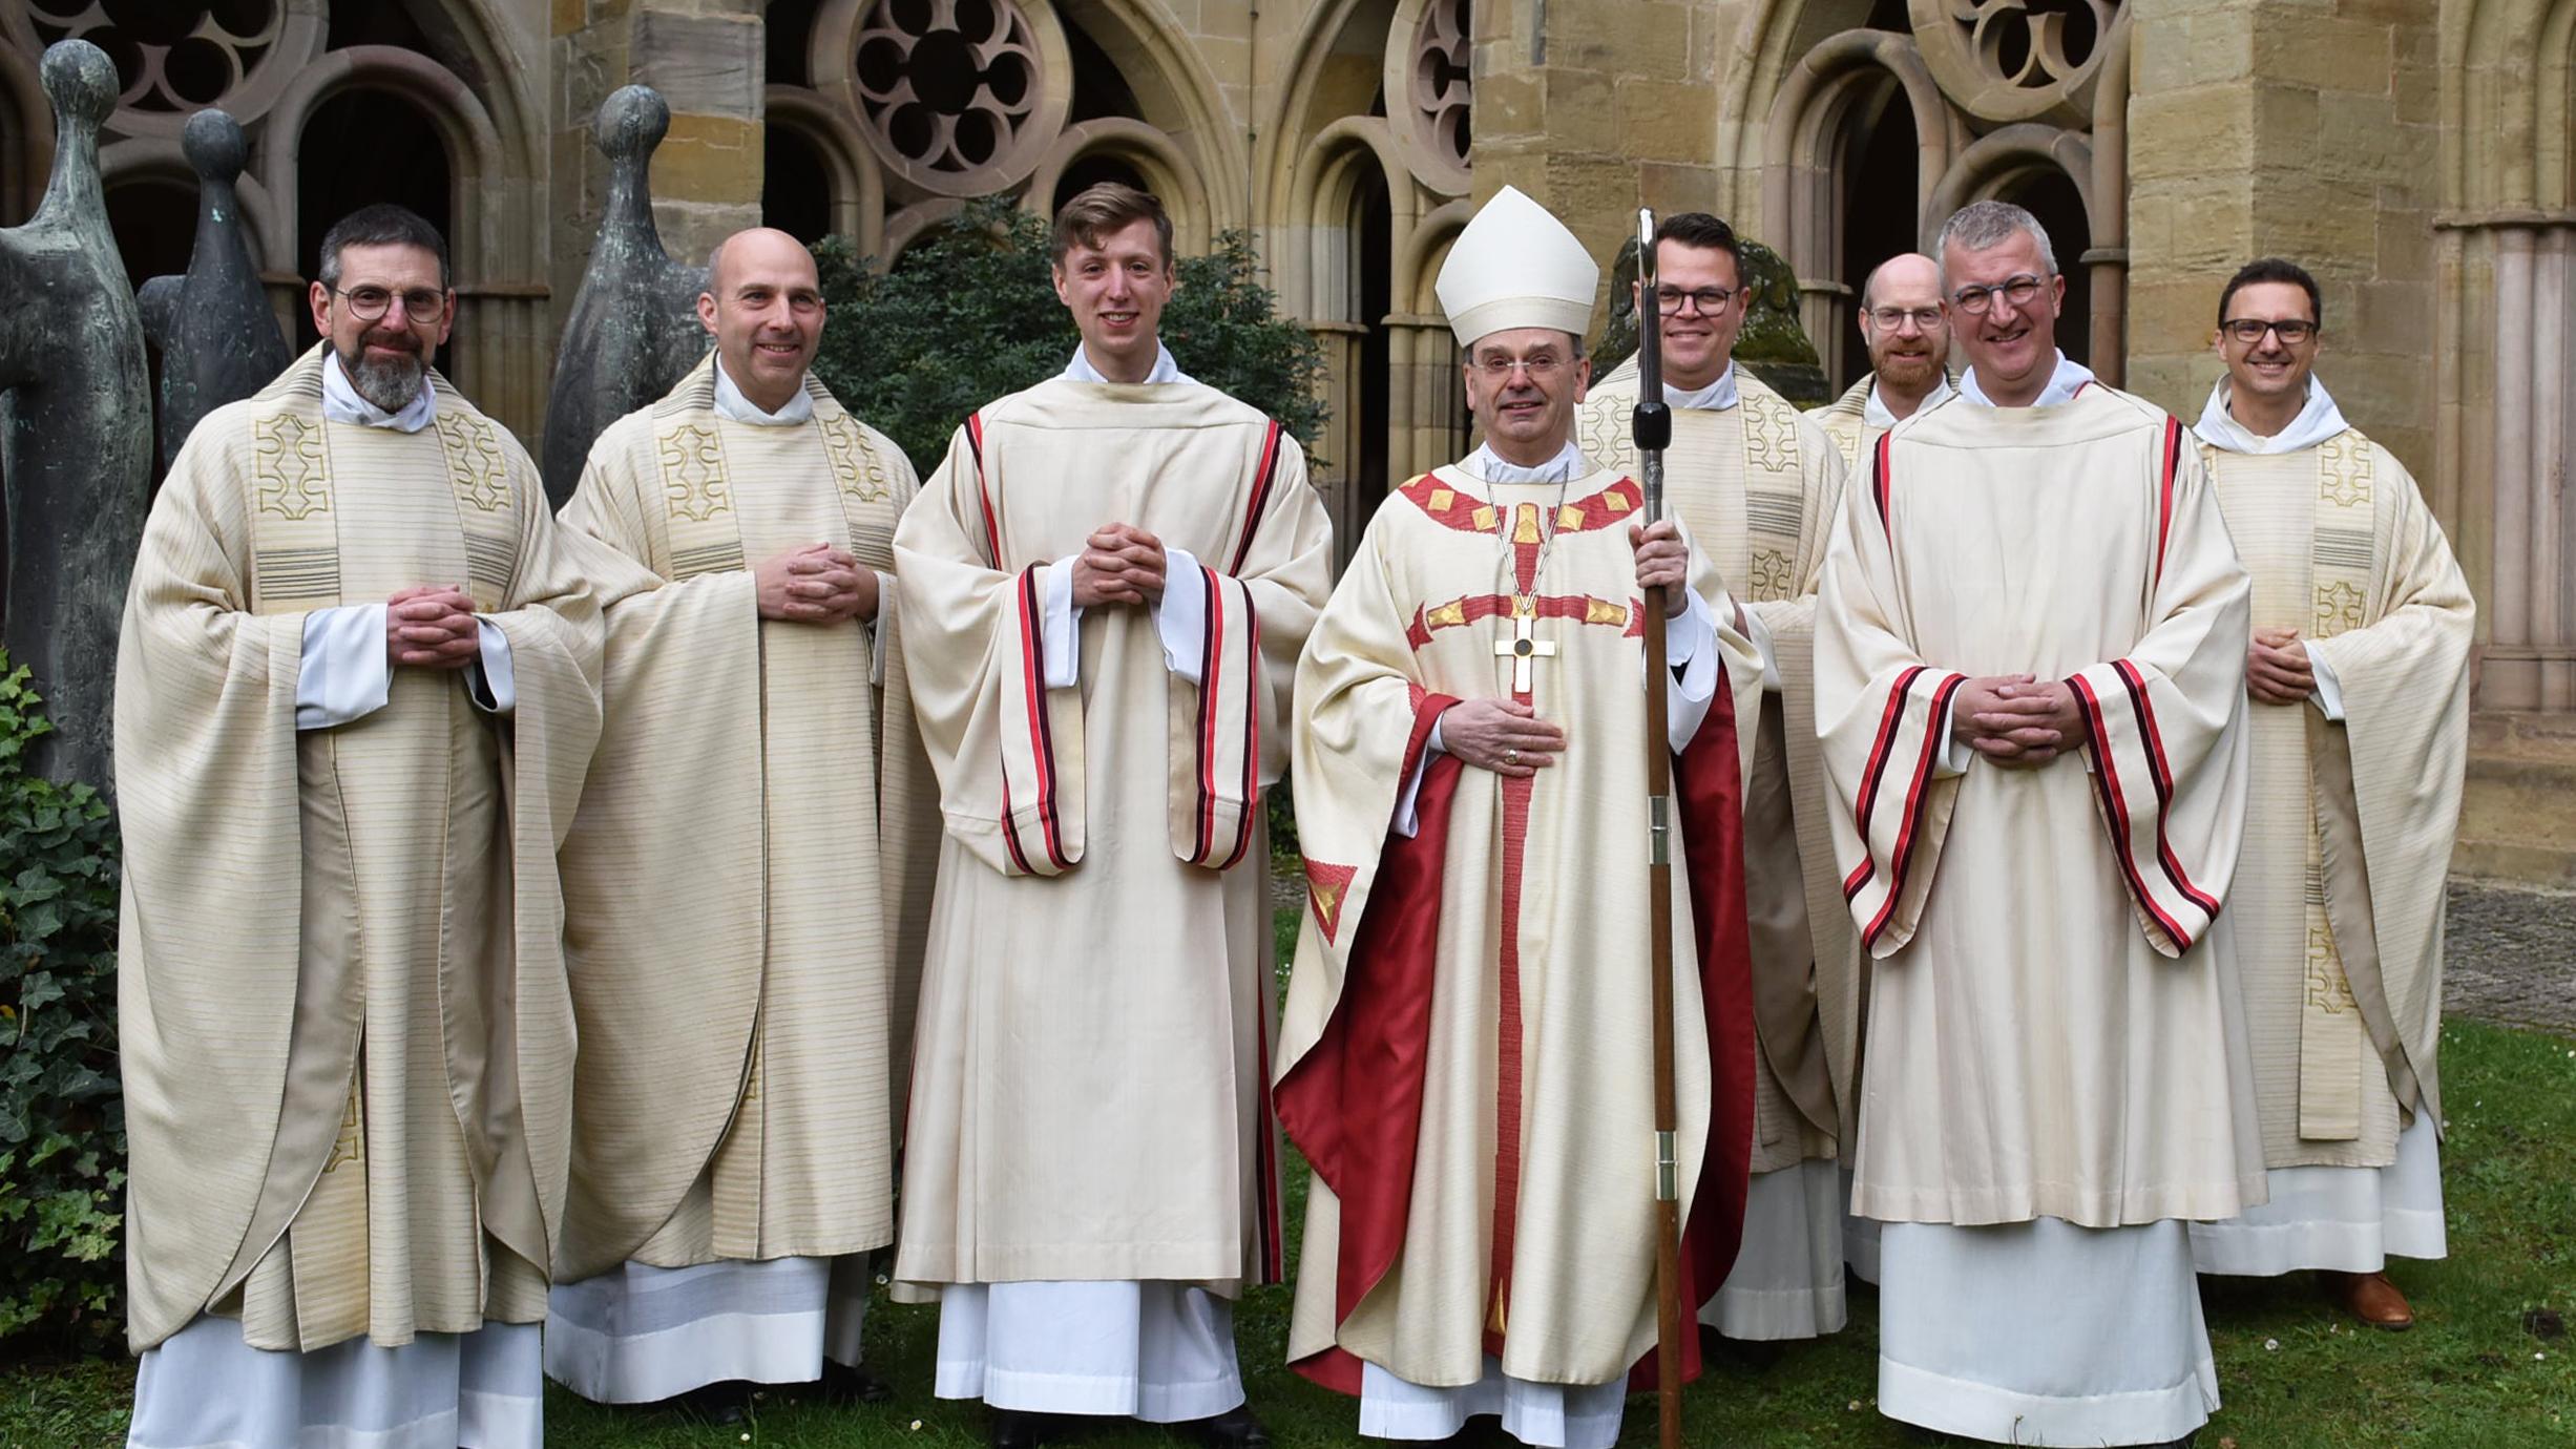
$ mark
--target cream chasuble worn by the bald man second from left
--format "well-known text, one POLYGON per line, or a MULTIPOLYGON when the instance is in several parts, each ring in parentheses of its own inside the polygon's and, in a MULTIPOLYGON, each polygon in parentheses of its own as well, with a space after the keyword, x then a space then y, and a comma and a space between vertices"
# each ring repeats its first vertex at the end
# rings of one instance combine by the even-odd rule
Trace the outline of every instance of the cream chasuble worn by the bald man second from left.
POLYGON ((811 422, 750 427, 716 414, 706 363, 600 435, 564 507, 672 579, 608 613, 608 736, 564 849, 567 1279, 894 1241, 927 878, 891 867, 927 849, 927 762, 871 687, 871 628, 762 623, 750 564, 835 543, 886 569, 917 484, 806 386, 811 422))

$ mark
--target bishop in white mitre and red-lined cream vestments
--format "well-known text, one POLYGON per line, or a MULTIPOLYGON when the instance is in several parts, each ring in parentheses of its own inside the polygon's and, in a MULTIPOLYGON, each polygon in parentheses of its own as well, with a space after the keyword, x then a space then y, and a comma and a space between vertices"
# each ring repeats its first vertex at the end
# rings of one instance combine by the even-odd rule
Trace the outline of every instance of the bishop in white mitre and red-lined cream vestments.
POLYGON ((1309 914, 1278 1091, 1314 1184, 1288 1359, 1358 1395, 1368 1436, 1499 1416, 1600 1449, 1654 1349, 1649 600, 1687 1310, 1744 1220, 1762 659, 1708 556, 1574 443, 1597 278, 1512 188, 1468 221, 1437 291, 1486 440, 1386 499, 1298 664, 1309 914))

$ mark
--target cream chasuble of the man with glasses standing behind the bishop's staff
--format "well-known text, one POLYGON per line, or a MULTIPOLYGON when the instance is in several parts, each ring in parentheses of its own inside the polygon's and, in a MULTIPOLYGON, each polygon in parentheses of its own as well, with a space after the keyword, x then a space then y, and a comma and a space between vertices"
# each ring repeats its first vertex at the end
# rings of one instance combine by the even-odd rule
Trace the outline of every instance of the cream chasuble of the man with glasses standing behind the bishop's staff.
MULTIPOLYGON (((1736 368, 1741 401, 1674 409, 1664 486, 1672 512, 1708 548, 1747 613, 1770 628, 1780 692, 1767 697, 1744 790, 1744 891, 1752 916, 1754 1171, 1834 1158, 1857 1127, 1862 960, 1834 875, 1816 741, 1816 574, 1842 512, 1844 463, 1832 440, 1762 378, 1736 368)), ((1636 468, 1628 412, 1636 360, 1582 404, 1592 458, 1636 468)))

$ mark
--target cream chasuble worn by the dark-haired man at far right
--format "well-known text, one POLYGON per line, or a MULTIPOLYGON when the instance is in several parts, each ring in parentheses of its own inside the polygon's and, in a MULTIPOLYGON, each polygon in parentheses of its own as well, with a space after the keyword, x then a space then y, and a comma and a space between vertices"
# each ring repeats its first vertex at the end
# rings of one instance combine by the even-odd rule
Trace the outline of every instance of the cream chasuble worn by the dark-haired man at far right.
POLYGON ((2388 1166, 2439 1127, 2442 880, 2468 757, 2476 605, 2414 479, 2360 430, 2202 450, 2254 623, 2298 628, 2344 723, 2249 705, 2254 790, 2228 896, 2267 1166, 2388 1166))

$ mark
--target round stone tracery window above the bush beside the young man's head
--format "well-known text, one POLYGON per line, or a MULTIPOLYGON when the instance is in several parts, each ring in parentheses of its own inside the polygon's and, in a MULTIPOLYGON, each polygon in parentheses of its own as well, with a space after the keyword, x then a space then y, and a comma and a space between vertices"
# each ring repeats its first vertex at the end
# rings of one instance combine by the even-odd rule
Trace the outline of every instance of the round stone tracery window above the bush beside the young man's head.
POLYGON ((1020 180, 1064 118, 1046 39, 1012 0, 876 0, 850 57, 868 139, 930 190, 1020 180))

